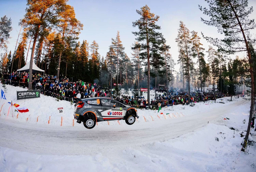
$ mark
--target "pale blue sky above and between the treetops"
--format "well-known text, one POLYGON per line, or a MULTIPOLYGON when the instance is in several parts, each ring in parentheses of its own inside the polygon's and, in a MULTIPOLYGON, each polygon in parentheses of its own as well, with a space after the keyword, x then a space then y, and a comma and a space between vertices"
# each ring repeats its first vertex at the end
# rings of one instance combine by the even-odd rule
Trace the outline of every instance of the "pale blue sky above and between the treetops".
MULTIPOLYGON (((12 19, 13 30, 10 32, 8 50, 15 49, 16 40, 20 26, 18 22, 23 18, 26 9, 25 0, 0 0, 1 10, 0 17, 6 15, 12 19)), ((132 27, 132 22, 139 19, 136 9, 140 9, 147 4, 152 13, 160 16, 157 25, 161 26, 160 32, 163 33, 166 39, 166 44, 169 45, 170 53, 175 61, 178 59, 178 47, 175 38, 178 34, 179 21, 182 20, 186 27, 193 31, 198 32, 202 37, 201 32, 206 36, 217 37, 217 28, 207 26, 201 22, 200 17, 207 18, 198 9, 198 4, 207 7, 204 0, 179 0, 179 1, 118 1, 118 0, 69 0, 68 4, 74 7, 76 17, 84 25, 81 34, 79 35, 81 42, 83 39, 91 43, 93 40, 99 44, 99 53, 101 56, 106 56, 106 52, 111 45, 111 38, 116 37, 116 33, 120 31, 120 38, 125 47, 125 52, 131 56, 131 46, 135 41, 135 36, 132 31, 137 28, 132 27)), ((249 6, 254 7, 254 12, 251 14, 251 19, 256 18, 256 1, 249 0, 249 6)), ((254 30, 252 34, 256 34, 254 30)), ((205 39, 201 39, 203 47, 207 50, 210 45, 205 39)), ((216 48, 217 49, 217 48, 216 48)), ((207 59, 207 53, 206 59, 207 59)), ((240 57, 244 54, 239 54, 240 57)), ((30 54, 29 54, 30 57, 30 54)), ((194 60, 196 61, 196 59, 194 60)), ((176 65, 175 70, 179 69, 176 65)))

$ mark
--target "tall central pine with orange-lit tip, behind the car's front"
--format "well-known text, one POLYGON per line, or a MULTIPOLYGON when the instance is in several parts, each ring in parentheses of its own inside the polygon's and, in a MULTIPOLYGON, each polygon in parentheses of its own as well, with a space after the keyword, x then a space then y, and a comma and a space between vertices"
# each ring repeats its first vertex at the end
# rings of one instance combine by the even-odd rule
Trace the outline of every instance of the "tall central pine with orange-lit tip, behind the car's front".
POLYGON ((133 22, 133 27, 138 26, 139 31, 132 33, 137 37, 136 40, 139 43, 132 47, 132 49, 140 48, 142 51, 140 53, 141 58, 147 59, 147 99, 150 102, 150 51, 160 49, 166 41, 162 33, 157 31, 161 29, 160 26, 156 25, 159 16, 151 13, 147 5, 143 6, 141 10, 136 10, 136 12, 141 18, 133 22))

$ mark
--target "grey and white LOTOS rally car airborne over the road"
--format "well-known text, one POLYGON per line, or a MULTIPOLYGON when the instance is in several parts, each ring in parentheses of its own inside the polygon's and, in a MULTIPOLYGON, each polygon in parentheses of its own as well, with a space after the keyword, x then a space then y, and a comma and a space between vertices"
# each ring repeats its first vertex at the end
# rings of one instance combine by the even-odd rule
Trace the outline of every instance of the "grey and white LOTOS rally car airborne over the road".
POLYGON ((77 99, 74 105, 74 119, 77 123, 91 129, 96 122, 125 120, 126 124, 132 125, 139 117, 134 107, 124 105, 108 97, 94 97, 77 99))

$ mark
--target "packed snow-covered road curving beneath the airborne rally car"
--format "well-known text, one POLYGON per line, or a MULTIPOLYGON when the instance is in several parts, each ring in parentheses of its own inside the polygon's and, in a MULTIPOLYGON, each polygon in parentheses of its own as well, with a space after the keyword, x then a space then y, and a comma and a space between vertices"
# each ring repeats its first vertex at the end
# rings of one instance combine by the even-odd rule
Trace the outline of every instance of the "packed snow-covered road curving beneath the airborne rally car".
MULTIPOLYGON (((214 123, 246 100, 209 108, 208 112, 170 120, 135 122, 133 125, 99 125, 88 130, 82 124, 74 127, 36 125, 0 120, 0 146, 14 150, 52 155, 102 155, 125 148, 136 148, 152 141, 165 141, 214 123), (35 127, 36 125, 36 127, 35 127)), ((191 108, 193 109, 193 108, 191 108)), ((139 114, 140 115, 140 114, 139 114)), ((141 118, 142 116, 140 116, 141 118)))

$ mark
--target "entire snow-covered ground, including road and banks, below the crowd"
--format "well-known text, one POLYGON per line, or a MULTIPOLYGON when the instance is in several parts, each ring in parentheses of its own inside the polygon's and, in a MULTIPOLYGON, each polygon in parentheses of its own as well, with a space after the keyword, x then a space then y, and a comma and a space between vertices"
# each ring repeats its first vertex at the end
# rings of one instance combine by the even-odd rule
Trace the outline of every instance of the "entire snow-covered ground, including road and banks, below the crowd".
POLYGON ((240 153, 250 106, 242 98, 163 108, 163 115, 138 110, 131 126, 99 122, 88 130, 73 126, 69 102, 43 95, 17 101, 16 90, 22 89, 7 85, 7 101, 0 102, 0 171, 256 171, 256 143, 240 153), (12 117, 10 100, 29 112, 12 117))

